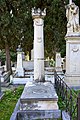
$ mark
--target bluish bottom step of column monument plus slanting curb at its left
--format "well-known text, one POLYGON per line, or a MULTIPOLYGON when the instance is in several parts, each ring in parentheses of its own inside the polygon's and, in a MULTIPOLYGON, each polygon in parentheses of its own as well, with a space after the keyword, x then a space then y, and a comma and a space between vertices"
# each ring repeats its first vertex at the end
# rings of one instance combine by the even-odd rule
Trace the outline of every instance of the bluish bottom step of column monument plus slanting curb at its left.
POLYGON ((54 119, 61 117, 60 110, 19 110, 20 99, 18 100, 10 120, 37 120, 37 119, 54 119))

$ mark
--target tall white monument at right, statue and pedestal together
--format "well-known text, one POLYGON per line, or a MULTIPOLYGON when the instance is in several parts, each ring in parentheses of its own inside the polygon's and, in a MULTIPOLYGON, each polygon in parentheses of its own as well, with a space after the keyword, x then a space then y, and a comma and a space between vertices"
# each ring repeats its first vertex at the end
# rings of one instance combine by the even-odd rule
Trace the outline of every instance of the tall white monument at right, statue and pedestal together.
POLYGON ((80 86, 80 26, 79 7, 72 1, 66 7, 66 75, 65 81, 71 87, 80 86))

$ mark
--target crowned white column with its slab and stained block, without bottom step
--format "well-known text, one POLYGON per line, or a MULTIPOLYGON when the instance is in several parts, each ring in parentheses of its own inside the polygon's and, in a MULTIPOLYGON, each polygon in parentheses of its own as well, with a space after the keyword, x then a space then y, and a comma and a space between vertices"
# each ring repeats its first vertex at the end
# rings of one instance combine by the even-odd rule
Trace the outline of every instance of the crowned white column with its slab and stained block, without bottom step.
POLYGON ((34 20, 34 80, 26 83, 20 98, 21 110, 58 110, 58 96, 51 82, 45 82, 43 18, 46 9, 32 9, 34 20))

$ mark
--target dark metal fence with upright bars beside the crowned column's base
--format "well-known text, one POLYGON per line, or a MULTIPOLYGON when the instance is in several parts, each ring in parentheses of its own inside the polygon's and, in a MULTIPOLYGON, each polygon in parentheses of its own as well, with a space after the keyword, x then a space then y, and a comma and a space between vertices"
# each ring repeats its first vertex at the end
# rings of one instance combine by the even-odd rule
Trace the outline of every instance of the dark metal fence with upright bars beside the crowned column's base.
POLYGON ((80 95, 77 94, 68 87, 63 79, 55 72, 55 89, 62 101, 62 109, 65 110, 70 120, 80 120, 80 95))

